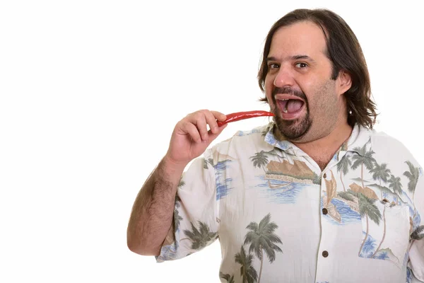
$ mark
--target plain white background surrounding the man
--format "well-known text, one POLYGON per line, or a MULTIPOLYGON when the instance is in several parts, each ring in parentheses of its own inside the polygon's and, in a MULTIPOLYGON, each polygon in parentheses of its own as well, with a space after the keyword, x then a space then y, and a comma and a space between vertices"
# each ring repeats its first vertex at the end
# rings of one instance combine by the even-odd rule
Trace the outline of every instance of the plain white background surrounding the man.
POLYGON ((294 8, 347 21, 375 128, 424 163, 419 1, 252 2, 1 1, 0 282, 218 282, 218 242, 161 264, 131 253, 131 206, 189 112, 266 110, 261 49, 294 8))

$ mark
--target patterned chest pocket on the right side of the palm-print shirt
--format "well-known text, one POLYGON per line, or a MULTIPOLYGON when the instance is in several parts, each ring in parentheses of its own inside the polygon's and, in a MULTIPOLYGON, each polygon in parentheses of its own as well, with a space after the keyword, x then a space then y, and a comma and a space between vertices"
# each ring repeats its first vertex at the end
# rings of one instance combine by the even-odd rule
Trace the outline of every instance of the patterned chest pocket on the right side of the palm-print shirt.
POLYGON ((408 260, 409 207, 360 197, 359 208, 363 233, 358 255, 402 268, 408 260))

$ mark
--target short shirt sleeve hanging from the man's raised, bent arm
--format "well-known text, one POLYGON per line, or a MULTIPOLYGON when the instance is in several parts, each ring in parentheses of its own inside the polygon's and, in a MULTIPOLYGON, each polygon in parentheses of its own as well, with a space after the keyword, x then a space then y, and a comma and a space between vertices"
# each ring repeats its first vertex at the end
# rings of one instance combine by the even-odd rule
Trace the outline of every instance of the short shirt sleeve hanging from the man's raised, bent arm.
POLYGON ((182 175, 175 197, 174 219, 157 262, 195 253, 218 238, 216 180, 212 151, 196 158, 182 175))

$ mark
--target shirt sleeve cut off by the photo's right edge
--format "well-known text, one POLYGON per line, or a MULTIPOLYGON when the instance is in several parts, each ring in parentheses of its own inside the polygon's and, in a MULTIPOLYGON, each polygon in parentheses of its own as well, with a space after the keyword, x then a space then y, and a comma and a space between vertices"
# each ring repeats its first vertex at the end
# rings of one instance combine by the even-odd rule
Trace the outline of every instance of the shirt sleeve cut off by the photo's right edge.
MULTIPOLYGON (((416 187, 408 186, 406 189, 413 201, 411 246, 409 248, 410 262, 408 267, 411 269, 416 279, 424 282, 424 175, 423 168, 417 167, 416 171, 416 175, 418 175, 416 187)), ((413 185, 413 183, 411 185, 413 185)))

